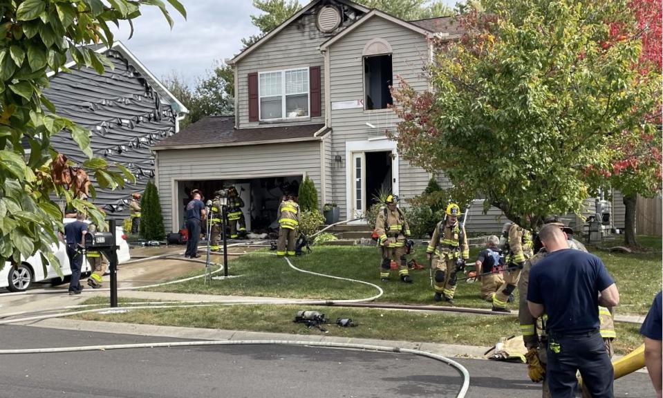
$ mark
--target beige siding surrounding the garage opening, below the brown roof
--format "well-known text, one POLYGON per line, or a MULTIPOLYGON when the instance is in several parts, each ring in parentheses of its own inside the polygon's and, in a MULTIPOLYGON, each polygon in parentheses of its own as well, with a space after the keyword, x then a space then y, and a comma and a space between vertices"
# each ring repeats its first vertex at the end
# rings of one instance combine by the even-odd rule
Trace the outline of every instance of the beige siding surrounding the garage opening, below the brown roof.
POLYGON ((158 168, 164 226, 167 231, 176 231, 172 200, 178 193, 173 191, 174 181, 305 175, 319 189, 320 142, 164 150, 159 151, 158 168))

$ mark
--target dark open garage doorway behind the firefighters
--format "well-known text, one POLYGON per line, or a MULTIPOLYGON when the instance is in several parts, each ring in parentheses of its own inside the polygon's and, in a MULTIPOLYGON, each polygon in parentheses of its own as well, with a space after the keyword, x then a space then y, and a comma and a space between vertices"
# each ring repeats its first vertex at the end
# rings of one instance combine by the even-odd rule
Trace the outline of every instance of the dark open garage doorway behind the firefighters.
MULTIPOLYGON (((189 202, 189 193, 193 189, 199 189, 204 196, 203 202, 214 198, 214 192, 218 189, 226 189, 231 185, 235 187, 239 196, 244 201, 242 211, 246 219, 247 231, 257 234, 268 232, 277 222, 277 211, 283 195, 299 192, 299 184, 302 176, 286 177, 262 177, 246 179, 219 179, 219 180, 191 180, 178 181, 178 225, 185 225, 185 207, 189 202)), ((175 228, 174 228, 175 229, 175 228)))

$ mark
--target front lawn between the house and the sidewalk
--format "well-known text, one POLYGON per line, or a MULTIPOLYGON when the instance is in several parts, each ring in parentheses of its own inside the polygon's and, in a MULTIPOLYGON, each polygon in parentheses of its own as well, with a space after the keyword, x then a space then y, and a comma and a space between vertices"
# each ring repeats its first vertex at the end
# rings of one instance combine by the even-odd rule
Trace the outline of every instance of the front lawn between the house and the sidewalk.
MULTIPOLYGON (((661 238, 641 237, 643 243, 660 248, 661 238)), ((414 257, 426 266, 425 249, 415 248, 414 257)), ((174 285, 156 287, 160 292, 181 292, 221 295, 273 296, 297 299, 361 299, 373 296, 375 288, 360 283, 337 281, 330 278, 303 274, 291 269, 286 260, 269 252, 247 254, 230 263, 231 275, 243 275, 227 281, 212 281, 205 285, 202 280, 188 281, 174 285)), ((476 258, 478 249, 471 251, 471 259, 476 258)), ((646 314, 653 296, 661 290, 660 251, 646 254, 611 254, 595 250, 615 278, 622 303, 617 307, 619 314, 646 314)), ((220 257, 220 256, 219 256, 220 257)), ((431 304, 433 290, 430 285, 429 270, 421 269, 410 274, 414 279, 411 285, 398 280, 398 272, 392 271, 391 281, 382 283, 378 277, 380 257, 375 247, 313 247, 311 254, 292 258, 292 263, 301 269, 322 274, 368 281, 380 285, 384 295, 378 302, 403 304, 431 304)), ((202 269, 200 272, 203 272, 202 269)), ((197 274, 200 274, 197 272, 197 274)), ((489 309, 479 297, 479 283, 459 282, 455 305, 489 309)), ((517 309, 518 299, 510 304, 517 309)), ((439 303, 438 305, 448 305, 439 303)))

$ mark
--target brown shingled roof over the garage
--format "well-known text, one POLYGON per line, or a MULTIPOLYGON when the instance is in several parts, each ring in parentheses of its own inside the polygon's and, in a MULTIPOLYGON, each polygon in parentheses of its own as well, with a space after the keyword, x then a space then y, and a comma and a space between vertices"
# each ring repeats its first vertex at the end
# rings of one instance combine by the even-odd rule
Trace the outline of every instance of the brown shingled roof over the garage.
POLYGON ((324 124, 235 129, 234 116, 208 116, 187 126, 183 131, 161 140, 153 151, 165 149, 198 149, 219 146, 279 144, 283 142, 320 140, 330 128, 324 124))

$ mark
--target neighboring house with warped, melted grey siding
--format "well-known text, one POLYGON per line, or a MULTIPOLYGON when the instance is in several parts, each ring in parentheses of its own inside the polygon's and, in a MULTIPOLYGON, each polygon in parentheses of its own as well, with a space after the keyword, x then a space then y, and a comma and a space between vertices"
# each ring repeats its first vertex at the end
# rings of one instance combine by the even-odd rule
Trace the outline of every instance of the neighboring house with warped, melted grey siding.
MULTIPOLYGON (((91 131, 91 147, 97 158, 120 163, 136 176, 136 184, 124 185, 115 191, 100 189, 90 176, 96 190, 95 204, 103 206, 109 216, 123 218, 129 209, 124 206, 131 193, 142 192, 155 178, 154 157, 150 146, 178 131, 178 120, 188 113, 174 97, 120 42, 112 48, 93 47, 113 64, 103 75, 91 68, 75 68, 71 73, 49 73, 50 86, 44 95, 57 108, 57 114, 68 117, 91 131)), ((66 131, 51 139, 56 151, 77 163, 86 160, 66 131)), ((28 146, 29 148, 29 146, 28 146)))

